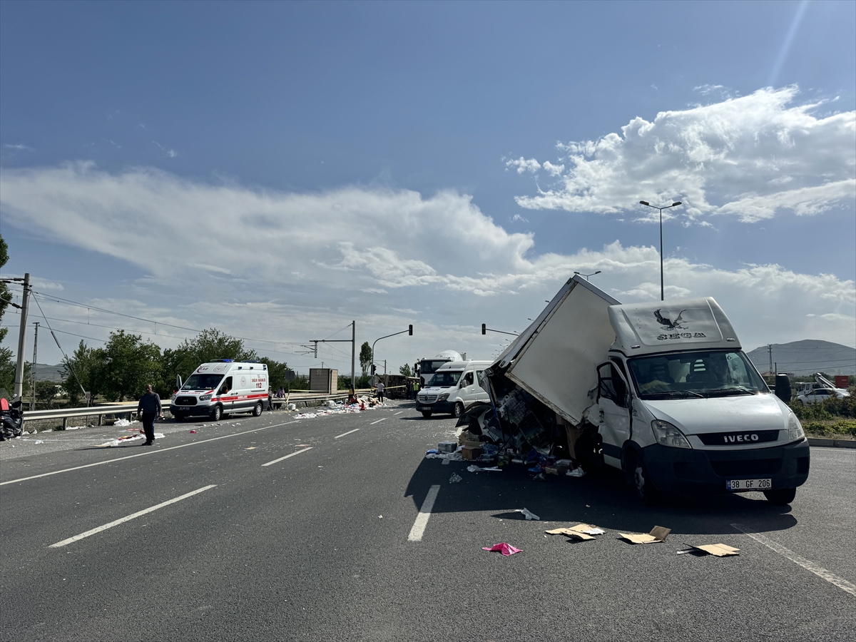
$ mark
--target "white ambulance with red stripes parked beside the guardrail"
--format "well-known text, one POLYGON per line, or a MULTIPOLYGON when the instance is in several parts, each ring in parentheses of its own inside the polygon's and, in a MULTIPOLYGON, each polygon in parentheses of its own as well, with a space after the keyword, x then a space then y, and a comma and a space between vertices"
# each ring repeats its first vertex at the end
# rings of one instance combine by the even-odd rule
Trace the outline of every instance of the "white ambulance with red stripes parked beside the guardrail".
POLYGON ((169 403, 175 421, 207 416, 219 421, 228 413, 258 417, 268 395, 268 372, 263 363, 223 359, 204 363, 193 371, 169 403))

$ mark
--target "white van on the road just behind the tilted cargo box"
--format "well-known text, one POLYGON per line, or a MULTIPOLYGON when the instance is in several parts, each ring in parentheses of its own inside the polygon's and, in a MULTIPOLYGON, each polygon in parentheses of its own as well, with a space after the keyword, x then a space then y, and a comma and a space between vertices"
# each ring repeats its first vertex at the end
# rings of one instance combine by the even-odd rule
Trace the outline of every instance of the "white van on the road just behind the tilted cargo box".
POLYGON ((416 409, 423 417, 433 413, 451 413, 460 417, 476 401, 490 402, 479 381, 491 361, 449 361, 440 366, 427 387, 419 390, 416 409))

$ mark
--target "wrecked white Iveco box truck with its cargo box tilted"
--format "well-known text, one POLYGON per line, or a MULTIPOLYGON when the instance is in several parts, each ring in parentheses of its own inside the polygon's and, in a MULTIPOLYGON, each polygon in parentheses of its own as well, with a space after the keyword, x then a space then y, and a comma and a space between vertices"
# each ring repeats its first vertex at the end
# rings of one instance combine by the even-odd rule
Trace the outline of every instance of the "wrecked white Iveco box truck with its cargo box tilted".
POLYGON ((646 503, 760 490, 783 504, 808 477, 800 420, 710 297, 621 305, 574 276, 487 374, 503 430, 532 414, 523 397, 542 420, 549 409, 646 503))

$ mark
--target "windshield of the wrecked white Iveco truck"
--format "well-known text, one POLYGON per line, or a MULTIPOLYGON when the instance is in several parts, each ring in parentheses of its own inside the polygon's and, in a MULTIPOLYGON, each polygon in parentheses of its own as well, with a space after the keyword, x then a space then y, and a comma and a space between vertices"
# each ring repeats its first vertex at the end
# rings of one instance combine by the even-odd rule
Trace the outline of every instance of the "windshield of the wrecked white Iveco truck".
POLYGON ((657 354, 627 360, 640 399, 680 399, 770 392, 742 352, 657 354))

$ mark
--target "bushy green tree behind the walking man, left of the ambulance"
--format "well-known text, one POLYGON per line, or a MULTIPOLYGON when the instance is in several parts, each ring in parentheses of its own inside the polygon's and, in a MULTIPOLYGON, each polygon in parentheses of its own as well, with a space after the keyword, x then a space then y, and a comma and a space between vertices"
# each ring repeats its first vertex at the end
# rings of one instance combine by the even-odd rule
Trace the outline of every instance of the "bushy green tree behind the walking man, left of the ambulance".
POLYGON ((101 393, 110 401, 125 397, 138 399, 147 383, 161 386, 161 352, 152 342, 143 342, 140 335, 125 330, 110 332, 104 346, 104 370, 99 377, 101 393))

